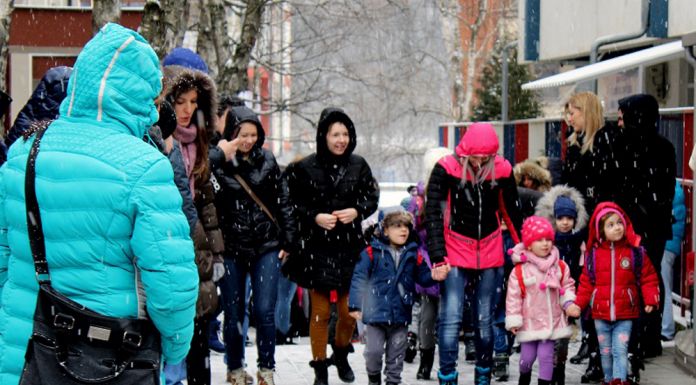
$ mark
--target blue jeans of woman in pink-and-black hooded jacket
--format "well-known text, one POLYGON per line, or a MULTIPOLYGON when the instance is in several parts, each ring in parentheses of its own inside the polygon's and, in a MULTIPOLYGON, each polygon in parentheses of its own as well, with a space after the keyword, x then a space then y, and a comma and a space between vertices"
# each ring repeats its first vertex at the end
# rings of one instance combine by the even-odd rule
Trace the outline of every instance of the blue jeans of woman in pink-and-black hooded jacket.
POLYGON ((456 370, 459 354, 459 329, 465 301, 469 301, 474 314, 476 334, 476 366, 490 368, 493 363, 493 316, 498 304, 501 288, 500 276, 503 268, 471 270, 453 268, 442 284, 440 320, 438 324, 438 347, 440 350, 440 372, 443 375, 456 370), (473 284, 473 298, 467 298, 464 290, 467 283, 473 284))

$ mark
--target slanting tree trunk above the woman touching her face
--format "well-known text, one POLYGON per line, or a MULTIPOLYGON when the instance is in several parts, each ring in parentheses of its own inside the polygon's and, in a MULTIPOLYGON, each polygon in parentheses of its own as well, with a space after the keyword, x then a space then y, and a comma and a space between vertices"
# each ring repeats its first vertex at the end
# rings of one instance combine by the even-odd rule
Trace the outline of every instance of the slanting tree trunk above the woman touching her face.
MULTIPOLYGON (((217 2, 218 0, 211 0, 217 2)), ((221 57, 218 68, 218 86, 222 90, 238 92, 249 89, 247 68, 251 62, 251 51, 261 32, 261 20, 268 0, 247 0, 244 17, 242 19, 242 34, 237 47, 234 49, 231 60, 221 57), (222 62, 224 60, 224 62, 222 62)), ((225 35, 223 41, 228 41, 225 35)), ((222 41, 220 44, 223 44, 222 41)), ((229 44, 226 43, 226 44, 229 44)))

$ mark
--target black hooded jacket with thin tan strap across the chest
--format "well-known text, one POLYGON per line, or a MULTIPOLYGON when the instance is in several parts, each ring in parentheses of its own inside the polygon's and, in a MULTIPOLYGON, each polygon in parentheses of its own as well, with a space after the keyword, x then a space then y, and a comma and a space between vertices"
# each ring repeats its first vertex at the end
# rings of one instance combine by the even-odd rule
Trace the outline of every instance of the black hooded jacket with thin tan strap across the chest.
MULTIPOLYGON (((269 250, 289 250, 295 228, 293 207, 275 157, 262 148, 265 134, 261 121, 252 110, 243 106, 232 108, 228 114, 236 115, 236 124, 250 122, 256 125, 258 139, 247 159, 239 153, 236 162, 225 162, 224 155, 222 160, 210 159, 219 186, 215 205, 225 236, 225 257, 252 261, 269 250), (254 202, 235 179, 235 174, 239 174, 268 207, 279 226, 254 202)), ((211 151, 210 156, 220 154, 220 151, 211 151)))

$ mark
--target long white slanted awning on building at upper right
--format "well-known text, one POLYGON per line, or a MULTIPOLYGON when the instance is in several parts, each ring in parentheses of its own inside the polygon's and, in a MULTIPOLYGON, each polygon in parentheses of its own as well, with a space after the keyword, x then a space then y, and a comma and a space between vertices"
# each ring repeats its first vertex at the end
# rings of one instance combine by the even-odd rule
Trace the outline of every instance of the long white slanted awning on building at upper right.
POLYGON ((626 71, 641 65, 651 65, 672 59, 685 57, 684 47, 680 40, 658 45, 644 50, 615 57, 599 63, 549 76, 522 85, 523 90, 560 87, 585 80, 593 80, 601 76, 626 71))

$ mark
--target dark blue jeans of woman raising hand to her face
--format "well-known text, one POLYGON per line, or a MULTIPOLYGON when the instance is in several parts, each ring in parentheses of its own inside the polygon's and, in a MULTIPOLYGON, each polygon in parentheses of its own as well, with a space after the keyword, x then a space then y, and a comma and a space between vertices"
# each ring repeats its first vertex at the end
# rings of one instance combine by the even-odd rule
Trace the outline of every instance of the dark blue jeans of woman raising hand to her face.
POLYGON ((280 275, 278 250, 271 250, 260 255, 251 264, 225 258, 225 267, 227 274, 220 280, 220 290, 223 292, 222 308, 225 311, 223 335, 227 349, 227 369, 232 371, 244 367, 247 274, 251 276, 251 287, 254 293, 258 366, 273 369, 275 367, 275 303, 280 275))

